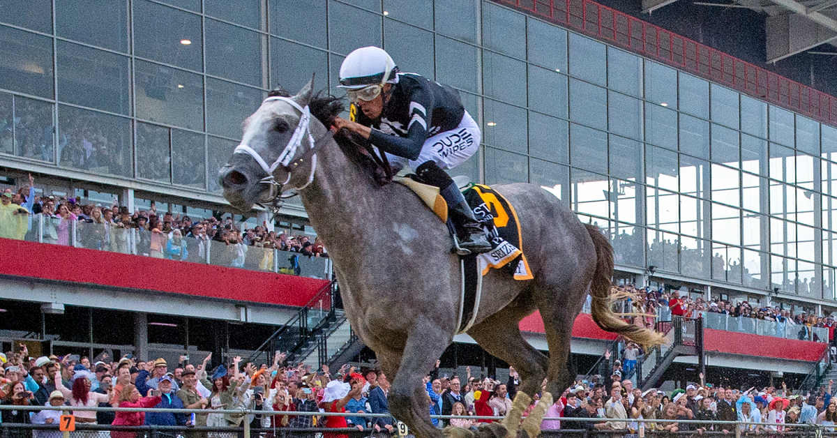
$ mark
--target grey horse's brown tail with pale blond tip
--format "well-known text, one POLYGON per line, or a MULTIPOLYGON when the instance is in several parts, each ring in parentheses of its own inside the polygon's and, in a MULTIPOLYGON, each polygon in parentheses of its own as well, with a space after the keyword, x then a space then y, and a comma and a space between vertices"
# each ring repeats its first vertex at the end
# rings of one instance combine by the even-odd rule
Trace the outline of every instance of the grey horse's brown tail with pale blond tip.
POLYGON ((614 296, 611 292, 613 284, 610 282, 610 277, 614 273, 614 248, 598 227, 592 224, 584 224, 584 226, 587 227, 590 237, 593 238, 593 245, 596 247, 596 271, 593 272, 593 282, 590 284, 590 295, 593 297, 591 304, 593 321, 602 330, 619 333, 646 348, 660 345, 664 342, 660 333, 624 322, 614 313, 612 309, 614 296))

